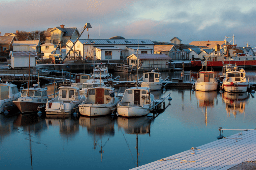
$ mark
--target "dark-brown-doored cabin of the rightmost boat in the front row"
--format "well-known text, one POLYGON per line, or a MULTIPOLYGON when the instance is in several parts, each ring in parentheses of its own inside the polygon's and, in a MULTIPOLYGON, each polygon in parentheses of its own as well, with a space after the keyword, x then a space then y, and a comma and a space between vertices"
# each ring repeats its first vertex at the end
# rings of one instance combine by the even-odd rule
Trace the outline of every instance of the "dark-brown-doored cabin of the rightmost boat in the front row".
POLYGON ((150 103, 150 88, 146 87, 134 87, 125 90, 121 101, 122 106, 143 106, 144 104, 150 103))

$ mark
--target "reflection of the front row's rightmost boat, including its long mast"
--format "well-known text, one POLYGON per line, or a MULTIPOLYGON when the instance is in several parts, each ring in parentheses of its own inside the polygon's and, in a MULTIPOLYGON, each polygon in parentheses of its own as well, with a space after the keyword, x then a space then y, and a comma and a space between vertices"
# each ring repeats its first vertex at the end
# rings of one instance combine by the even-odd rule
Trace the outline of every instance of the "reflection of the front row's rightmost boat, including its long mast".
MULTIPOLYGON (((136 117, 136 118, 125 118, 118 117, 117 124, 119 128, 124 129, 127 134, 136 134, 136 158, 137 158, 137 167, 138 167, 138 134, 149 134, 150 136, 150 124, 154 120, 153 118, 144 117, 136 117)), ((125 135, 124 135, 125 138, 125 135)), ((125 138, 126 140, 126 138, 125 138)), ((128 143, 127 143, 128 145, 128 143)), ((129 145, 128 145, 129 148, 129 145)), ((129 148, 130 150, 130 148, 129 148)), ((132 154, 132 153, 131 153, 132 154)), ((143 155, 143 154, 142 154, 143 155)), ((142 157, 142 156, 141 156, 142 157)), ((133 158, 133 156, 132 156, 133 158)), ((140 162, 140 161, 139 161, 140 162)))

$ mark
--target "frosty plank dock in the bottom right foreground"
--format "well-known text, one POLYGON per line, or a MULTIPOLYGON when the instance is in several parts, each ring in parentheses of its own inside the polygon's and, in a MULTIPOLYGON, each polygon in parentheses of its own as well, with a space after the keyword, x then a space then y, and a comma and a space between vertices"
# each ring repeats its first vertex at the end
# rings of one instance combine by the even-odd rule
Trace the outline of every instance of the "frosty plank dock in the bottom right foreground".
POLYGON ((158 161, 133 168, 133 170, 227 170, 242 162, 255 160, 256 130, 247 130, 196 147, 194 150, 190 149, 164 159, 159 158, 158 161))

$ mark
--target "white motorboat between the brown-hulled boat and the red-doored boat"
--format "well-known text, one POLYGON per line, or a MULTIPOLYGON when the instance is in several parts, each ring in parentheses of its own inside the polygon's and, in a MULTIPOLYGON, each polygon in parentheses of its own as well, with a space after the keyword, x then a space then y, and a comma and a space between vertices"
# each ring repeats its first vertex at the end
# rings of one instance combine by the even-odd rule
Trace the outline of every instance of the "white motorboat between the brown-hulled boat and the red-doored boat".
POLYGON ((59 87, 59 95, 46 103, 46 114, 68 115, 74 113, 75 107, 78 107, 85 96, 79 95, 79 89, 76 87, 59 87))

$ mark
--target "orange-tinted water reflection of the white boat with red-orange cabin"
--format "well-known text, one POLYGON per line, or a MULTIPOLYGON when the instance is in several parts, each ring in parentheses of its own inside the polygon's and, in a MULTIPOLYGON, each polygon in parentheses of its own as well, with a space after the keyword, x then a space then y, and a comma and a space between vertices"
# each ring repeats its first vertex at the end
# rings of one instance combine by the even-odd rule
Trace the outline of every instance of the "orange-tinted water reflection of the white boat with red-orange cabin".
POLYGON ((207 108, 214 108, 214 103, 216 99, 216 104, 218 104, 217 99, 217 91, 196 91, 196 107, 205 108, 204 116, 205 116, 205 125, 207 126, 207 108))

